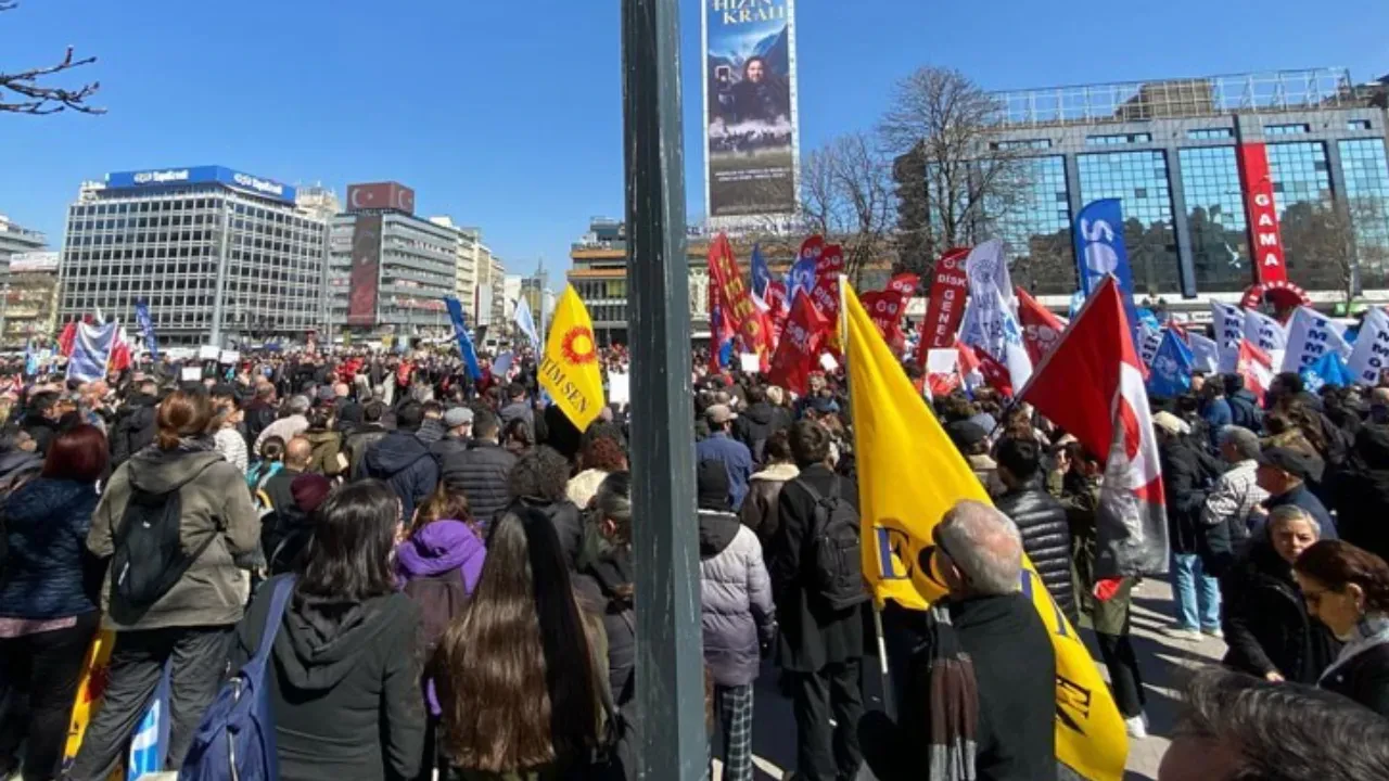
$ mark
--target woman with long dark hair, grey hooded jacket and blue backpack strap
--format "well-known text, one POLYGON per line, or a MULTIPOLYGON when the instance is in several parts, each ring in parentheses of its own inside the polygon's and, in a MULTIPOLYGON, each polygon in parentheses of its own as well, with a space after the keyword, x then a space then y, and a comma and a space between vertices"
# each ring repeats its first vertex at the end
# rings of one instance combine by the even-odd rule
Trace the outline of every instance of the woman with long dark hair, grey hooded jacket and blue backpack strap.
MULTIPOLYGON (((317 518, 268 667, 279 780, 413 778, 425 713, 419 607, 396 591, 392 567, 400 500, 383 482, 350 484, 317 518)), ((238 627, 232 668, 260 646, 275 584, 238 627)))

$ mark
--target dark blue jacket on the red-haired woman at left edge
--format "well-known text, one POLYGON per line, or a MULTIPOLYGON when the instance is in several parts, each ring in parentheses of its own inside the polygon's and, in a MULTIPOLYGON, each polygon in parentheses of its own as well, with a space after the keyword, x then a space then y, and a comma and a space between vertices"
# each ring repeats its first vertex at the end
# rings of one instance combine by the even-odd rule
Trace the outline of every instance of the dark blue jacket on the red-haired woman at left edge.
POLYGON ((36 478, 10 495, 0 616, 65 618, 96 610, 83 586, 96 502, 96 486, 71 479, 36 478))

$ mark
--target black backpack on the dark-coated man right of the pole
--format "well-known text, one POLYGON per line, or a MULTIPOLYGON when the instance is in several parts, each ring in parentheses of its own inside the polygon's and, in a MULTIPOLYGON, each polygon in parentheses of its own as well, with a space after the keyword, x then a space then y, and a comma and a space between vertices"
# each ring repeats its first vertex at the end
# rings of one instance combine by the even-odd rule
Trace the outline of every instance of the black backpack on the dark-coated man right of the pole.
POLYGON ((813 593, 831 610, 847 610, 868 602, 858 511, 839 495, 839 478, 835 478, 829 496, 821 496, 806 481, 801 485, 815 500, 810 529, 811 563, 815 567, 813 593))

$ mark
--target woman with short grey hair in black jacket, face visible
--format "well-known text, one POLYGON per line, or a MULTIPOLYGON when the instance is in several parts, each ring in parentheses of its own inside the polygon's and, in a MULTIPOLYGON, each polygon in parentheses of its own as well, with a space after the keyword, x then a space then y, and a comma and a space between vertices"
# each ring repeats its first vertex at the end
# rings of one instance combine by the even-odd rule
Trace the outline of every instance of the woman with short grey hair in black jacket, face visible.
POLYGON ((1268 681, 1315 684, 1335 659, 1339 643, 1308 614, 1293 579, 1293 561, 1318 536, 1306 510, 1278 507, 1264 536, 1221 578, 1228 667, 1268 681))

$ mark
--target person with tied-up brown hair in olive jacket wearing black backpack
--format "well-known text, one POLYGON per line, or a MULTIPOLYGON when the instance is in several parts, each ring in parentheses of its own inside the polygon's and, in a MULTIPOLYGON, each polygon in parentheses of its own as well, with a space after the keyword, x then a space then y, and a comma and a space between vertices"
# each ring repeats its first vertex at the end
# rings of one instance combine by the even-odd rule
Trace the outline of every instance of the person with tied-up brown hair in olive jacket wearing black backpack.
POLYGON ((201 389, 175 392, 156 425, 154 443, 111 475, 86 538, 92 553, 111 557, 101 602, 115 645, 110 684, 68 773, 75 781, 111 774, 165 667, 168 767, 183 763, 250 595, 235 557, 258 550, 260 518, 242 471, 215 449, 211 400, 201 389), (178 536, 169 556, 165 532, 178 536))

